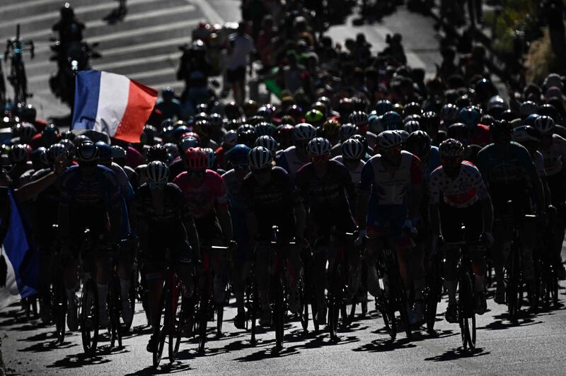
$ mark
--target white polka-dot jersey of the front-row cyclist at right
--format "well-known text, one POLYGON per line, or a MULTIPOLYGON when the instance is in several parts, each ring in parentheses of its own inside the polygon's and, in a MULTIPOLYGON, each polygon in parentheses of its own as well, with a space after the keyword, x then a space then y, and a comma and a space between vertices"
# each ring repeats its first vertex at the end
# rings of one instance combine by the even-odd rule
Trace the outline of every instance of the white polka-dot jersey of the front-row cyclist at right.
POLYGON ((487 188, 478 168, 464 160, 454 179, 446 175, 442 166, 434 170, 430 175, 429 194, 430 204, 439 204, 442 194, 445 204, 454 208, 468 208, 487 198, 487 188))

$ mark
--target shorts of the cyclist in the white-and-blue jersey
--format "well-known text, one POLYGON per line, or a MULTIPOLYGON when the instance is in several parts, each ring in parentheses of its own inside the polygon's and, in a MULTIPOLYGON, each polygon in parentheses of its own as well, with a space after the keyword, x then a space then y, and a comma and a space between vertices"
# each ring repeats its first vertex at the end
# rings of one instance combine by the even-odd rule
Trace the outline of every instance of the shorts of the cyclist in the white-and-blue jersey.
POLYGON ((412 247, 412 242, 403 234, 403 224, 407 219, 405 205, 370 206, 367 213, 367 236, 370 239, 393 235, 400 248, 412 247))

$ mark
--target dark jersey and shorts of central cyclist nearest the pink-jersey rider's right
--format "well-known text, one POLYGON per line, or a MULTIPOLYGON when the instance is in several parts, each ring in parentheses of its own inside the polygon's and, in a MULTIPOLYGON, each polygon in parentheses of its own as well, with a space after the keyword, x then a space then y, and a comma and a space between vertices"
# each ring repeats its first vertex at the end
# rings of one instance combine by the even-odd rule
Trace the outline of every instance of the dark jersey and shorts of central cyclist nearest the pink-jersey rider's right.
POLYGON ((243 194, 246 206, 253 212, 258 222, 258 235, 262 240, 270 240, 272 226, 279 226, 283 237, 292 237, 295 230, 294 207, 301 204, 295 184, 285 170, 274 167, 271 180, 260 185, 248 174, 243 180, 243 194))

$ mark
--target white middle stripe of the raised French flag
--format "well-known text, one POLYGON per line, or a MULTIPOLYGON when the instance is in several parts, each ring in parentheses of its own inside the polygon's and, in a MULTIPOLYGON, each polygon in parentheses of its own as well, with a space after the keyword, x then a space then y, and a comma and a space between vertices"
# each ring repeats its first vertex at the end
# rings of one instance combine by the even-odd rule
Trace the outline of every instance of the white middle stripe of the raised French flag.
POLYGON ((102 72, 94 130, 114 136, 128 105, 129 78, 102 72))

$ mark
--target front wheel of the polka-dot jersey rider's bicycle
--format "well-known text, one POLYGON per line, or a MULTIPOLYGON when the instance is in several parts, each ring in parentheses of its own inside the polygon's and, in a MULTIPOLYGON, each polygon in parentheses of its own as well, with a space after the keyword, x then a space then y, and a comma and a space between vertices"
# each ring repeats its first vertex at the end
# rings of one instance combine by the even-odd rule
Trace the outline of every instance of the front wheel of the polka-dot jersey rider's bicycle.
POLYGON ((473 295, 473 279, 470 273, 464 273, 458 283, 458 321, 460 323, 462 346, 464 349, 475 349, 475 299, 473 295))

